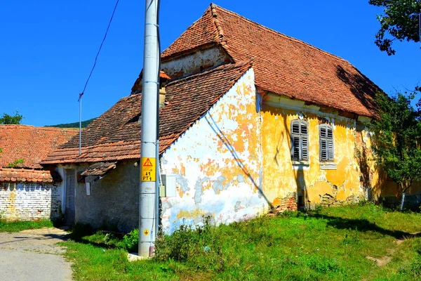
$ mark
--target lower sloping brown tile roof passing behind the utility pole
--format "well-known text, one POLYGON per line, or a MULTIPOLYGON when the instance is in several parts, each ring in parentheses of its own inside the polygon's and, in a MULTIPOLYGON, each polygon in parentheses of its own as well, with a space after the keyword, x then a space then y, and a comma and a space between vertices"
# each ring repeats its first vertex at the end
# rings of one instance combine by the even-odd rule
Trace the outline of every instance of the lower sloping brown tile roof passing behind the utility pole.
MULTIPOLYGON (((222 65, 213 70, 169 81, 166 106, 159 110, 162 153, 197 119, 224 95, 251 67, 250 61, 222 65)), ((140 94, 122 98, 82 131, 82 154, 79 137, 46 157, 41 163, 107 162, 140 157, 140 94)))

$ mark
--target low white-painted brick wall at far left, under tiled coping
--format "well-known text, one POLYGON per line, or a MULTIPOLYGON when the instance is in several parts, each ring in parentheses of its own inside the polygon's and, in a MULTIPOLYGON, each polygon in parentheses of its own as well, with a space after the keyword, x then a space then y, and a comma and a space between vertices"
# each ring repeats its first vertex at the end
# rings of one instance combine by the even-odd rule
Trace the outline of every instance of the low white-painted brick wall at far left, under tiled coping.
POLYGON ((58 186, 37 183, 1 183, 0 218, 33 221, 60 216, 58 186))

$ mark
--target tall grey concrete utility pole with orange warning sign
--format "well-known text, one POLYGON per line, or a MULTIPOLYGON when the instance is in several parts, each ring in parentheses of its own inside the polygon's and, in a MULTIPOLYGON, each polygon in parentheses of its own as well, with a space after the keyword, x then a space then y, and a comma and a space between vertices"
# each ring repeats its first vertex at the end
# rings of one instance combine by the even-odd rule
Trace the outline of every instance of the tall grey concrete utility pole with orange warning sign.
POLYGON ((152 256, 156 235, 156 145, 159 90, 159 0, 146 0, 142 77, 140 152, 139 256, 152 256))

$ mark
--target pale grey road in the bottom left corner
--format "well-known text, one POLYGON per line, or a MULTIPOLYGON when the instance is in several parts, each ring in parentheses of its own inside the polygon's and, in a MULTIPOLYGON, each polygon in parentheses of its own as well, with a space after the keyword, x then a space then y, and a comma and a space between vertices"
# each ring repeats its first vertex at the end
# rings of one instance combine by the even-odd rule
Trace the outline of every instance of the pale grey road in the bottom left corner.
POLYGON ((58 228, 0 233, 0 280, 72 280, 70 263, 56 245, 66 232, 58 228))

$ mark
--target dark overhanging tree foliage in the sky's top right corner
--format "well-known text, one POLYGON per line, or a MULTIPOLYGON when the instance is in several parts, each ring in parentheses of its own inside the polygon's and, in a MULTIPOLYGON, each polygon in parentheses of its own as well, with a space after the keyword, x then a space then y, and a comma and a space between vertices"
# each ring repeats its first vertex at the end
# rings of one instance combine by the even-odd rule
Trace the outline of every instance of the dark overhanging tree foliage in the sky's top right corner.
POLYGON ((380 30, 375 35, 375 44, 381 51, 394 55, 392 41, 420 41, 421 0, 369 0, 369 4, 383 7, 377 15, 380 30), (392 39, 386 38, 389 34, 392 39))

